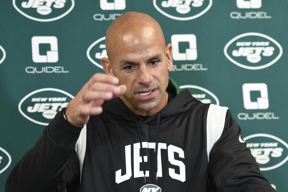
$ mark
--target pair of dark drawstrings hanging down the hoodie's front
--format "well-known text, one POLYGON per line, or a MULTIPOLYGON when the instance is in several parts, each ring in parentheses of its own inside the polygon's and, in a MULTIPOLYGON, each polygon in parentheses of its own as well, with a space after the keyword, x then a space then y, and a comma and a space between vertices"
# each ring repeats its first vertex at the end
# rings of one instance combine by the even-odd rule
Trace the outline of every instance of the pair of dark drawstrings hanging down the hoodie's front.
MULTIPOLYGON (((141 139, 141 131, 140 131, 140 127, 139 124, 136 120, 136 118, 130 114, 130 116, 132 116, 132 118, 134 119, 136 125, 137 125, 137 129, 138 129, 138 136, 139 136, 139 140, 140 140, 140 149, 141 149, 141 158, 142 158, 142 169, 143 169, 143 173, 144 173, 144 182, 146 183, 146 166, 144 164, 144 152, 143 152, 143 147, 142 147, 142 139, 141 139)), ((159 144, 159 122, 160 122, 160 116, 161 113, 158 113, 157 116, 157 124, 156 124, 156 145, 155 145, 155 156, 154 156, 154 160, 155 160, 155 169, 156 169, 156 180, 157 180, 157 172, 158 172, 158 144, 159 144)))

